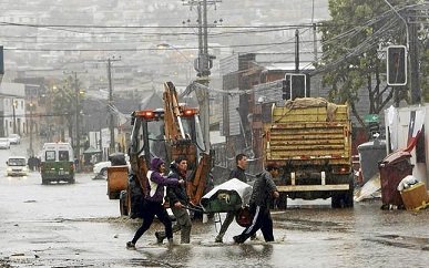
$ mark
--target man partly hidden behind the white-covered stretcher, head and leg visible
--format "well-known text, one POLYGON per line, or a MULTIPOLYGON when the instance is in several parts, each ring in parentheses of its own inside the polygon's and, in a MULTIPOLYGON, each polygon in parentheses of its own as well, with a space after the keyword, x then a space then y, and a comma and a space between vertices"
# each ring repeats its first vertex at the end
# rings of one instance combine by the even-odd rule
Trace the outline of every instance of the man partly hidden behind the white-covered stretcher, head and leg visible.
MULTIPOLYGON (((246 177, 246 174, 244 173, 247 167, 247 156, 245 154, 237 154, 235 156, 235 164, 236 164, 236 168, 234 168, 229 173, 228 179, 238 178, 243 183, 247 183, 247 177, 246 177)), ((215 243, 223 243, 223 237, 226 230, 228 229, 231 223, 233 223, 235 215, 236 215, 236 212, 228 212, 226 214, 224 223, 221 226, 219 234, 217 234, 215 238, 215 243)))

